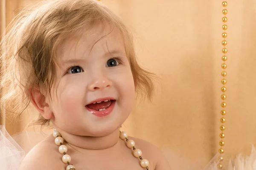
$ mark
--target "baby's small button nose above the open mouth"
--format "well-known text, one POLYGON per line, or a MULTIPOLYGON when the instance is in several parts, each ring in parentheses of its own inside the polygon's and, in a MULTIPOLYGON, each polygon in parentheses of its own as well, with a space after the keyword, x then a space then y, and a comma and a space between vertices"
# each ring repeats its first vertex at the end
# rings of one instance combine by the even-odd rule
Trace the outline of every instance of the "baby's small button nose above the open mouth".
POLYGON ((112 86, 112 81, 102 75, 100 77, 95 78, 89 84, 88 89, 90 91, 95 91, 95 90, 105 89, 106 87, 111 87, 111 86, 112 86))

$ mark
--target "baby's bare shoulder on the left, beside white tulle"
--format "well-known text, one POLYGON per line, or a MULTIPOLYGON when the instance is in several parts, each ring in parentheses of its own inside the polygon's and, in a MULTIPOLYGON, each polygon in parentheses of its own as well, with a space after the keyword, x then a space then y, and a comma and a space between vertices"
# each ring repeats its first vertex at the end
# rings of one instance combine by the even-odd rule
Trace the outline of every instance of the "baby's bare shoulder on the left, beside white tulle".
POLYGON ((54 140, 53 137, 48 137, 33 147, 23 159, 20 170, 57 170, 63 168, 60 167, 60 164, 56 164, 56 159, 59 158, 60 154, 58 154, 58 149, 52 140, 54 140))

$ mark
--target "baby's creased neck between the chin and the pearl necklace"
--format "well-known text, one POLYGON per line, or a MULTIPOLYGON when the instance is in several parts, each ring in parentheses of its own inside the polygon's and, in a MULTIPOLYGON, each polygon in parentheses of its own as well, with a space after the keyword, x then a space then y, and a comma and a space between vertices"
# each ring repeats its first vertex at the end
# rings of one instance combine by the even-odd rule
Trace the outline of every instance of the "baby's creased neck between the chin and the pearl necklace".
POLYGON ((113 133, 102 137, 78 136, 59 131, 65 142, 72 147, 86 150, 104 150, 113 147, 119 141, 119 129, 113 133))

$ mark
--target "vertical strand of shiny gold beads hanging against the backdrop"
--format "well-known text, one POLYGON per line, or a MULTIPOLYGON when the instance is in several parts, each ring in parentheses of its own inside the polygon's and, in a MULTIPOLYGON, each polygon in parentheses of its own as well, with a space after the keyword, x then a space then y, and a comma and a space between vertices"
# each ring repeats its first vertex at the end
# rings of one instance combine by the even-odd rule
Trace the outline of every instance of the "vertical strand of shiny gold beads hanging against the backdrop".
MULTIPOLYGON (((222 2, 222 6, 223 7, 226 7, 227 6, 227 1, 223 1, 222 2)), ((221 164, 221 162, 223 161, 223 156, 222 154, 224 153, 224 150, 223 150, 223 147, 224 147, 224 140, 223 138, 225 137, 225 134, 224 134, 224 130, 226 129, 226 127, 224 126, 224 123, 226 121, 226 119, 224 118, 224 115, 226 115, 226 110, 224 109, 227 104, 225 102, 225 99, 227 98, 225 92, 227 90, 227 88, 225 87, 225 84, 227 83, 227 80, 226 80, 226 75, 227 75, 227 72, 225 71, 225 69, 227 68, 227 65, 225 63, 225 61, 227 61, 227 56, 226 56, 226 53, 227 53, 227 48, 226 48, 226 45, 227 45, 227 41, 226 41, 226 37, 227 37, 227 33, 226 33, 226 30, 227 30, 227 17, 226 17, 226 14, 227 14, 227 9, 223 9, 222 10, 222 14, 224 14, 224 17, 222 17, 222 22, 224 23, 222 25, 222 29, 224 30, 224 32, 222 33, 222 37, 224 38, 221 42, 221 44, 223 45, 223 49, 222 49, 222 53, 224 54, 221 58, 221 60, 223 61, 223 63, 221 64, 221 68, 223 69, 223 71, 221 72, 221 76, 223 77, 222 80, 221 80, 221 84, 222 84, 222 87, 221 87, 221 92, 222 92, 222 95, 221 95, 221 126, 220 126, 220 130, 221 130, 221 133, 220 133, 220 138, 221 138, 221 141, 219 142, 219 145, 220 145, 220 149, 218 150, 218 152, 221 154, 221 156, 219 157, 219 164, 217 165, 218 169, 222 169, 223 165, 221 164)))

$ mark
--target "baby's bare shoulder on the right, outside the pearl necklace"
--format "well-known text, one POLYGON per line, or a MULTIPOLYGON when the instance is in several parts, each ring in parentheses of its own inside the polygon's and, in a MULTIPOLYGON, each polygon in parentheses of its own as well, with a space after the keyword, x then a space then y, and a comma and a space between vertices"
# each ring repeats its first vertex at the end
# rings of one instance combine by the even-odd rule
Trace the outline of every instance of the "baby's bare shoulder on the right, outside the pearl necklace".
POLYGON ((171 170, 168 160, 159 148, 143 139, 130 136, 129 138, 134 140, 135 146, 142 151, 142 157, 146 156, 145 159, 153 161, 154 170, 171 170))

